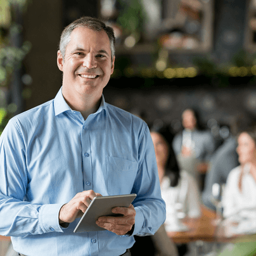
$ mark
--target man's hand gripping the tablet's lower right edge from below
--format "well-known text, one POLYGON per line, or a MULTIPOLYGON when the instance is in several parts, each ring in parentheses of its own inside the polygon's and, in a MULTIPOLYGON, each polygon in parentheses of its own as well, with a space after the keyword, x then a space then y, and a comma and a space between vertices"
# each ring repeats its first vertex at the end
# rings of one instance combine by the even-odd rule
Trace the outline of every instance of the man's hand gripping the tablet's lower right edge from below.
POLYGON ((114 216, 102 216, 99 217, 96 224, 99 227, 103 227, 115 234, 123 235, 132 229, 135 223, 136 211, 133 205, 129 208, 126 207, 115 207, 112 212, 114 214, 124 214, 124 216, 114 217, 114 216))

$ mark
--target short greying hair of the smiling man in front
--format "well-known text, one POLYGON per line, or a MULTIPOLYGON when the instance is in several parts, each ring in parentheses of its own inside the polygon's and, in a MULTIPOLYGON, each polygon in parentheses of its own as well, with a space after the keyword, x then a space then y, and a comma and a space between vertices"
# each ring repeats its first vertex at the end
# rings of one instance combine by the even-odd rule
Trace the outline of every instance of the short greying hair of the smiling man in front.
POLYGON ((89 16, 84 16, 70 23, 70 25, 65 27, 65 29, 61 33, 59 49, 63 56, 63 60, 65 60, 65 53, 67 45, 70 42, 70 35, 77 27, 86 27, 94 31, 100 31, 102 29, 105 30, 108 38, 110 39, 111 60, 113 61, 113 58, 115 56, 115 34, 112 27, 106 26, 106 24, 104 22, 101 22, 101 20, 99 20, 98 18, 93 18, 89 16))

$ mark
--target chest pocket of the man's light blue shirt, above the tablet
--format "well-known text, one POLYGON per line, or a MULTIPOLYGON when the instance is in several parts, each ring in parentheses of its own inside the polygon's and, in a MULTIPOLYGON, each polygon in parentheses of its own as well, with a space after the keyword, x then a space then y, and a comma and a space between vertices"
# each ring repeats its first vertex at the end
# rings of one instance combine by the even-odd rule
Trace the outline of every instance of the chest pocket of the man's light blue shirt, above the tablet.
POLYGON ((106 157, 109 195, 131 194, 138 163, 119 157, 106 157))

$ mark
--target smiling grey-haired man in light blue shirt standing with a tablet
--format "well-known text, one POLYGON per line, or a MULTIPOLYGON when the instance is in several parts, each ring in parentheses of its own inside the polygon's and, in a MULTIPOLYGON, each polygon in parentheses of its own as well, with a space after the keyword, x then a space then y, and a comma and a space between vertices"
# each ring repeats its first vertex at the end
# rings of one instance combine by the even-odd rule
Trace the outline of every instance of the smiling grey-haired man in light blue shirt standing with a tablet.
POLYGON ((21 255, 130 255, 134 234, 154 234, 165 221, 148 127, 102 95, 114 43, 98 19, 68 25, 56 98, 12 118, 0 138, 0 234, 21 255), (99 217, 106 231, 73 232, 95 196, 130 193, 133 205, 113 209, 122 217, 99 217))

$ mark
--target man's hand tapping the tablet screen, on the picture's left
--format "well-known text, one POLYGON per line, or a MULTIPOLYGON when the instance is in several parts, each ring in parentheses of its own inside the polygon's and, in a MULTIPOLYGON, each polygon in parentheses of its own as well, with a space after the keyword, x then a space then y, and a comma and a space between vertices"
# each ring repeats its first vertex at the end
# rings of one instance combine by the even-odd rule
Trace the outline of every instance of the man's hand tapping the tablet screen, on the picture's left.
POLYGON ((95 193, 93 190, 82 191, 60 208, 59 222, 71 223, 76 218, 82 217, 86 212, 87 207, 91 203, 94 197, 101 196, 99 193, 95 193))

